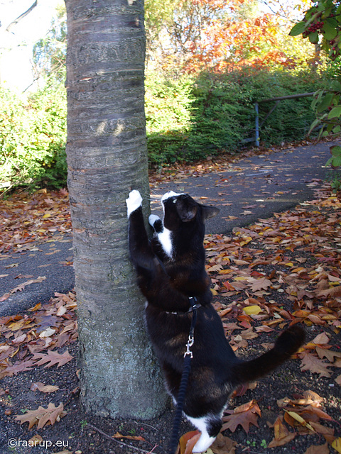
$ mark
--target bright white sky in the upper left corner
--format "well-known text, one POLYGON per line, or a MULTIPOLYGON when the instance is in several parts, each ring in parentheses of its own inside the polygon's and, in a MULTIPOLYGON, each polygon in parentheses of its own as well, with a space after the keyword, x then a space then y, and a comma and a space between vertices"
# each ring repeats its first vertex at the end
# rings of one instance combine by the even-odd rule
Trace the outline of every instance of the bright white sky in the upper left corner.
POLYGON ((50 28, 61 0, 38 0, 38 5, 10 31, 6 28, 24 13, 34 0, 0 0, 0 82, 23 92, 33 82, 32 48, 50 28))

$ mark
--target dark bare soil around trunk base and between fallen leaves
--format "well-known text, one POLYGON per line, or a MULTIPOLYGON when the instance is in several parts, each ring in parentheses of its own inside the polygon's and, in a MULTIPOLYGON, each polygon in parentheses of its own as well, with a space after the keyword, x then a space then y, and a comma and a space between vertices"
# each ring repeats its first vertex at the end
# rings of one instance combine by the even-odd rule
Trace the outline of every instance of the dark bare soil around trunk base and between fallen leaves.
MULTIPOLYGON (((261 248, 261 245, 254 243, 253 247, 257 249, 261 248)), ((295 250, 290 254, 294 258, 295 250)), ((302 253, 300 253, 301 256, 302 253)), ((310 260, 309 257, 308 260, 310 260)), ((285 295, 274 292, 269 298, 276 299, 278 303, 281 303, 283 309, 292 311, 292 303, 285 295)), ((228 305, 232 301, 233 297, 224 298, 221 295, 215 297, 217 306, 228 305)), ((229 320, 229 322, 232 321, 232 319, 229 320)), ((340 334, 335 333, 329 326, 311 325, 305 329, 307 341, 325 332, 330 337, 330 345, 340 348, 340 334)), ((280 331, 281 328, 276 327, 275 331, 271 333, 260 333, 258 337, 248 341, 247 348, 239 348, 237 354, 250 358, 263 353, 265 350, 261 344, 273 342, 280 331)), ((171 402, 163 414, 151 421, 109 419, 85 414, 80 402, 77 378, 77 370, 80 368, 77 341, 65 345, 63 349, 59 350, 60 353, 63 353, 66 348, 73 359, 61 367, 56 365, 34 367, 1 380, 0 454, 167 453, 174 416, 171 402), (55 384, 59 389, 51 394, 38 390, 31 391, 31 384, 35 382, 55 384), (37 409, 38 406, 47 407, 50 402, 53 402, 55 406, 63 402, 66 412, 65 416, 53 425, 41 429, 33 426, 31 430, 28 430, 28 423, 20 424, 16 421, 16 415, 24 414, 27 409, 37 409), (117 433, 120 433, 123 438, 119 438, 119 436, 113 438, 117 433), (36 446, 33 446, 34 437, 38 441, 36 446), (131 440, 127 437, 142 437, 144 441, 131 440)), ((232 409, 251 399, 255 399, 261 409, 258 426, 249 426, 248 433, 242 426, 238 426, 234 433, 225 431, 224 435, 236 442, 234 453, 286 454, 292 452, 304 454, 311 445, 325 445, 325 438, 322 435, 301 427, 296 428, 298 434, 293 441, 277 448, 268 448, 270 441, 274 438, 274 428, 271 425, 274 424, 280 413, 278 399, 295 398, 309 389, 323 398, 321 409, 332 419, 324 420, 323 426, 335 429, 335 436, 341 436, 341 391, 334 378, 319 377, 318 374, 310 371, 302 372, 300 362, 291 360, 269 377, 261 380, 254 389, 247 389, 243 395, 231 399, 229 407, 232 409)), ((193 430, 193 427, 183 421, 180 433, 190 430, 193 430)), ((289 431, 293 431, 293 428, 289 428, 289 431)), ((325 449, 322 451, 321 448, 320 452, 328 453, 330 450, 330 452, 336 453, 330 445, 325 449)), ((220 453, 227 454, 229 451, 222 450, 220 453)))

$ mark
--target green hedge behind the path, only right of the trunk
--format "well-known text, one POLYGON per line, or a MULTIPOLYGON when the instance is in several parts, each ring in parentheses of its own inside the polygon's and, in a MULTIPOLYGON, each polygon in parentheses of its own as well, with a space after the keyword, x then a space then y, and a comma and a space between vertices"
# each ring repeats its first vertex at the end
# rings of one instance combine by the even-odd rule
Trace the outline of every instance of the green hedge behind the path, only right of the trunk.
MULTIPOLYGON (((255 101, 315 92, 323 84, 318 74, 308 71, 293 74, 261 68, 227 74, 202 73, 191 79, 150 77, 146 85, 150 163, 158 166, 225 151, 235 153, 244 139, 254 135, 255 101), (153 109, 148 106, 151 94, 153 109), (161 119, 157 127, 155 118, 161 119)), ((311 101, 312 98, 281 101, 261 128, 261 141, 275 145, 303 138, 314 119, 311 101)), ((274 102, 259 104, 260 123, 273 105, 274 102)))

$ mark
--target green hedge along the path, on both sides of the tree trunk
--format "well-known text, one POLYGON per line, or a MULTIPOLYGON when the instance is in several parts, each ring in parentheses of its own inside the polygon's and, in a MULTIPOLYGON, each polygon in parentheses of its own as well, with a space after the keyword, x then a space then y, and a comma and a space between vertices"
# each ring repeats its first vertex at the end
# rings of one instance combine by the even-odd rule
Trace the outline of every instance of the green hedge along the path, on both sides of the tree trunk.
MULTIPOLYGON (((237 153, 254 135, 254 102, 314 92, 323 79, 309 72, 244 68, 198 77, 146 78, 146 126, 151 167, 237 153)), ((314 119, 312 99, 281 101, 261 128, 261 141, 299 140, 314 119)), ((273 104, 259 104, 260 122, 273 104)), ((66 96, 62 84, 23 100, 0 88, 0 189, 66 184, 66 96)))

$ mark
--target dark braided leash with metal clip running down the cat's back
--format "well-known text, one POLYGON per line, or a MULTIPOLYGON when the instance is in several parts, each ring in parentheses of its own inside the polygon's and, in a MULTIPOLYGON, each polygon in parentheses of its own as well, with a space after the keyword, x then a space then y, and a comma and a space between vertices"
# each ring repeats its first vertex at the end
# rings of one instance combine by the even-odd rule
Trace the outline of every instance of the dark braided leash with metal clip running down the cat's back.
POLYGON ((175 416, 173 421, 173 431, 171 435, 171 443, 169 454, 174 454, 176 448, 178 447, 178 438, 180 431, 180 422, 181 416, 183 414, 183 404, 185 403, 186 389, 188 385, 188 377, 190 375, 190 360, 193 358, 193 352, 190 350, 194 343, 194 330, 195 323, 197 323, 197 308, 200 307, 200 304, 197 304, 196 297, 189 297, 190 306, 193 311, 192 321, 190 323, 190 333, 188 335, 188 343, 186 344, 187 350, 183 355, 183 373, 181 375, 181 381, 178 391, 178 399, 175 410, 175 416))

